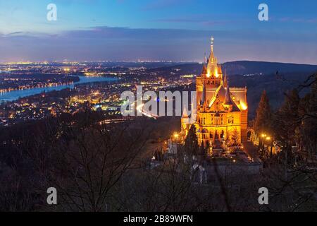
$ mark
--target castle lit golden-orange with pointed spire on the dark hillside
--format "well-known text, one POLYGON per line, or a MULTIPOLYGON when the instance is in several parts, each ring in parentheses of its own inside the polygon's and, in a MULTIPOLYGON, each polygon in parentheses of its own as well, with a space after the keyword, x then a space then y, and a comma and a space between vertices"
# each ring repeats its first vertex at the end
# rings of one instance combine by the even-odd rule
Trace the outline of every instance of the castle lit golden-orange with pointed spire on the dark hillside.
MULTIPOLYGON (((223 144, 241 144, 247 141, 247 88, 230 87, 228 76, 223 76, 220 64, 211 53, 205 59, 201 75, 196 78, 197 129, 199 144, 220 148, 223 144)), ((191 124, 182 115, 182 133, 187 135, 191 124)))

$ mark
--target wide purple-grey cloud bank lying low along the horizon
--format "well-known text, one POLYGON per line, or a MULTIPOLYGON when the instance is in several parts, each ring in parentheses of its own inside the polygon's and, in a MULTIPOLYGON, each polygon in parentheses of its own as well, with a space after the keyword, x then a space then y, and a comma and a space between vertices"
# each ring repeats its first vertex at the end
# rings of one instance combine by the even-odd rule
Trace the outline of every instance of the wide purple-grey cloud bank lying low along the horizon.
POLYGON ((316 64, 317 34, 254 30, 182 30, 99 26, 55 35, 0 35, 1 61, 173 60, 201 61, 209 38, 221 62, 249 59, 316 64))

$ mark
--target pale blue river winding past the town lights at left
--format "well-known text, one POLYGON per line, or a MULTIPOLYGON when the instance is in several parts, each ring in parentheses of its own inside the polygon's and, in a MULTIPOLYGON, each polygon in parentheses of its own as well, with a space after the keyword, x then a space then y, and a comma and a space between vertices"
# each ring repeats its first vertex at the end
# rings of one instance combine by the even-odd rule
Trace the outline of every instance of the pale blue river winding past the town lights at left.
POLYGON ((0 102, 8 102, 13 100, 18 100, 20 97, 27 97, 30 95, 39 94, 42 92, 49 92, 53 90, 63 90, 65 88, 74 88, 75 85, 80 83, 96 83, 96 82, 111 82, 117 81, 117 78, 108 77, 89 77, 89 76, 78 76, 80 81, 70 84, 70 85, 58 85, 54 87, 44 87, 44 88, 32 88, 27 90, 13 90, 11 92, 0 93, 0 102))

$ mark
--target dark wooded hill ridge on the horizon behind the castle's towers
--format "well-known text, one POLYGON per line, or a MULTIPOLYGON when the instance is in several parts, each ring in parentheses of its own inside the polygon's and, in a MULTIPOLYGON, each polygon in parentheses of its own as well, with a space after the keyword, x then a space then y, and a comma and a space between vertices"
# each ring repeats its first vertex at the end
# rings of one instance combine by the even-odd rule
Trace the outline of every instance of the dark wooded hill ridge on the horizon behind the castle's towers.
MULTIPOLYGON (((159 72, 165 76, 180 76, 184 74, 200 74, 201 64, 181 64, 162 66, 149 71, 159 72), (173 73, 171 73, 173 72, 173 73)), ((226 71, 230 78, 230 86, 247 86, 249 103, 249 119, 256 114, 261 93, 266 90, 273 109, 282 104, 287 90, 297 88, 312 73, 317 71, 317 65, 285 64, 261 61, 232 61, 223 64, 223 73, 226 71), (278 76, 276 75, 278 71, 278 76)), ((303 90, 302 95, 307 90, 303 90)))

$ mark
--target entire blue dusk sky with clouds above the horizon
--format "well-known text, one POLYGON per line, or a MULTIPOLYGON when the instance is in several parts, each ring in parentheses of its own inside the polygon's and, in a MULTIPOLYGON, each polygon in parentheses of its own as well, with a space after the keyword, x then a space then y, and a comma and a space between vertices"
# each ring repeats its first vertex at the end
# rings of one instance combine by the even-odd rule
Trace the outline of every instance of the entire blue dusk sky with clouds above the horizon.
POLYGON ((316 1, 0 0, 0 62, 218 61, 317 64, 316 1), (46 6, 57 20, 46 20, 46 6), (258 20, 268 4, 269 20, 258 20), (208 54, 208 53, 207 53, 208 54))

